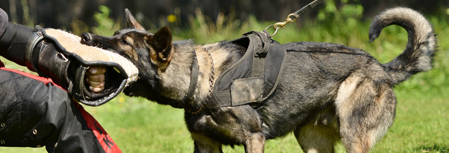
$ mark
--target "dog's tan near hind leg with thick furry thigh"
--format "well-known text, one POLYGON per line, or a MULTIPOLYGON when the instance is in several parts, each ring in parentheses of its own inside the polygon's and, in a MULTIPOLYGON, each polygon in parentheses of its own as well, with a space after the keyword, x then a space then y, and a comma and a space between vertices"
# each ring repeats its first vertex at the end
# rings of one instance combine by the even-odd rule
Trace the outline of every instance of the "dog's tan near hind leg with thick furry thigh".
POLYGON ((393 123, 396 98, 386 82, 353 75, 340 85, 335 106, 346 151, 368 152, 393 123))

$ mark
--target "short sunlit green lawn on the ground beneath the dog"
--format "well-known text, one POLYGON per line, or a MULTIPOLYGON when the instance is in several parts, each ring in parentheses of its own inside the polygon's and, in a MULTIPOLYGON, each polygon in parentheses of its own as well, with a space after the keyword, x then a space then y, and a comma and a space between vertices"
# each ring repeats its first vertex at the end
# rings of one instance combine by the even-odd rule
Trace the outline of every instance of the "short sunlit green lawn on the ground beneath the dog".
MULTIPOLYGON (((397 94, 396 119, 387 135, 371 152, 449 152, 447 97, 432 94, 397 94)), ((193 152, 193 141, 184 125, 183 111, 142 98, 119 95, 102 107, 85 107, 123 152, 193 152), (122 101, 124 100, 124 101, 122 101)), ((345 152, 338 144, 337 152, 345 152)), ((242 146, 224 152, 244 152, 242 146)), ((6 148, 0 152, 45 152, 44 148, 6 148)), ((269 140, 265 152, 302 152, 293 135, 269 140)))

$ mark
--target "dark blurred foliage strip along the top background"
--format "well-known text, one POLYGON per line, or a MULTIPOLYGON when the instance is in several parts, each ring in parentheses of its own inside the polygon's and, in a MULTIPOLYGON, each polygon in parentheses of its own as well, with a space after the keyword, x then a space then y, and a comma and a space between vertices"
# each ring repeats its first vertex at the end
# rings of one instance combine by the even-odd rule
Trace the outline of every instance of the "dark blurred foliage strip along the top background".
MULTIPOLYGON (((87 25, 93 25, 96 21, 92 16, 101 5, 110 8, 110 16, 113 19, 123 17, 123 10, 128 8, 133 14, 136 14, 136 19, 144 27, 161 27, 168 23, 172 27, 187 28, 189 16, 195 16, 196 9, 202 10, 203 14, 213 21, 219 19, 220 13, 225 16, 234 14, 234 18, 241 21, 248 20, 250 17, 255 17, 259 21, 275 21, 285 19, 286 15, 310 2, 312 0, 5 0, 0 1, 0 8, 5 10, 11 21, 16 23, 45 24, 44 27, 64 28, 72 31, 70 26, 72 21, 80 20, 87 25), (173 19, 172 15, 177 19, 176 24, 167 20, 173 19)), ((369 19, 381 10, 395 6, 407 6, 432 15, 445 14, 449 7, 447 0, 326 0, 326 3, 335 4, 336 10, 341 10, 343 14, 354 15, 355 13, 352 11, 360 12, 363 8, 362 19, 369 19), (342 6, 350 9, 341 9, 342 6), (351 9, 351 7, 357 7, 357 9, 351 9)), ((327 6, 323 4, 318 5, 315 9, 303 14, 298 22, 316 19, 319 14, 318 10, 325 7, 327 6)), ((321 17, 323 17, 322 14, 321 17)))

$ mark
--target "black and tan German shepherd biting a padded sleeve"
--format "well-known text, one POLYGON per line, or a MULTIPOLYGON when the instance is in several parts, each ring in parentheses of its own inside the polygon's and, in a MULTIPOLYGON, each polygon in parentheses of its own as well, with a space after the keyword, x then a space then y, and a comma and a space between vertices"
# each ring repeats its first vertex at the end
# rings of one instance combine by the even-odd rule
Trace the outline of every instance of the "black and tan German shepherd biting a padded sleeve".
POLYGON ((393 123, 397 103, 393 86, 430 70, 437 46, 432 25, 420 13, 388 9, 373 19, 369 38, 375 40, 391 24, 405 28, 408 44, 392 61, 381 64, 364 50, 339 44, 286 43, 285 70, 275 93, 263 101, 262 113, 248 105, 204 109, 211 59, 218 76, 246 48, 230 41, 206 45, 172 41, 168 27, 151 34, 128 10, 126 14, 129 29, 110 37, 84 33, 82 43, 110 49, 137 66, 139 79, 123 90, 126 95, 184 109, 194 152, 222 152, 222 145, 263 152, 265 140, 290 132, 306 152, 334 152, 337 141, 347 152, 368 152, 393 123), (194 53, 199 65, 197 88, 195 98, 185 101, 194 53), (191 113, 195 111, 199 113, 191 113))

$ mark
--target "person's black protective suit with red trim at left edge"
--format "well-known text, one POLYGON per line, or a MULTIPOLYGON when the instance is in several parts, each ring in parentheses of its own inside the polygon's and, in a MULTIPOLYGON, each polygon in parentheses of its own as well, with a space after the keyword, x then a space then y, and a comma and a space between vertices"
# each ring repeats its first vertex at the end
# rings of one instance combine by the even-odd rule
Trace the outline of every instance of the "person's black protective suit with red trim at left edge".
MULTIPOLYGON (((0 56, 24 66, 32 33, 32 28, 8 22, 0 9, 0 56)), ((48 47, 55 49, 51 44, 48 47)), ((120 152, 103 127, 63 88, 51 79, 5 68, 1 61, 0 146, 45 146, 48 152, 120 152)))

